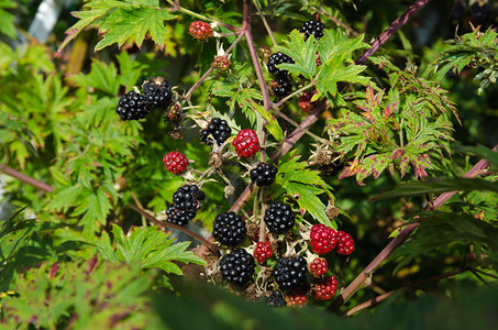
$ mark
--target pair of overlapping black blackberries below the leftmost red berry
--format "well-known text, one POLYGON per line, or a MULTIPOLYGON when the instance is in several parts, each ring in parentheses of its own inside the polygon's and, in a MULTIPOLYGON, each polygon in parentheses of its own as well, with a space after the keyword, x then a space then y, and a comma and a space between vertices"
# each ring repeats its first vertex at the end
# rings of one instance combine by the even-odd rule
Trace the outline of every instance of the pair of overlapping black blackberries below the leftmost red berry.
POLYGON ((206 194, 196 185, 185 185, 173 194, 173 206, 166 210, 167 221, 186 226, 196 217, 197 210, 202 206, 200 202, 206 194))

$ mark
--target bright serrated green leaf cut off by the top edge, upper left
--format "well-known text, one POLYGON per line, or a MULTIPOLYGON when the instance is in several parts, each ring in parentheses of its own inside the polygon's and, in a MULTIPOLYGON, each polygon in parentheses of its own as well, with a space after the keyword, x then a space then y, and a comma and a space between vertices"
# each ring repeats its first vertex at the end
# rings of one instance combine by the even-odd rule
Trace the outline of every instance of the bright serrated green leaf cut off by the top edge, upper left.
POLYGON ((66 31, 67 36, 57 50, 56 56, 90 25, 98 26, 99 33, 103 35, 96 51, 114 43, 121 47, 126 41, 135 42, 141 47, 147 34, 159 48, 163 48, 164 38, 167 35, 164 23, 176 19, 167 8, 159 8, 158 0, 90 0, 84 9, 86 10, 73 13, 79 21, 66 31))

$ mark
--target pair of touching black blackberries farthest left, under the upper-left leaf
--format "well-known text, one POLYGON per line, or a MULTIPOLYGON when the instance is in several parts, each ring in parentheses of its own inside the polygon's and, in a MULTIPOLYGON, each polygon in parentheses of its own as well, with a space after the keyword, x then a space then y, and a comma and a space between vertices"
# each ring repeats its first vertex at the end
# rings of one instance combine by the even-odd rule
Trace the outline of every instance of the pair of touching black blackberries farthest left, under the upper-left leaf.
POLYGON ((165 109, 173 98, 171 85, 163 78, 145 80, 142 90, 142 94, 131 90, 121 97, 115 108, 121 120, 144 119, 153 109, 165 109))

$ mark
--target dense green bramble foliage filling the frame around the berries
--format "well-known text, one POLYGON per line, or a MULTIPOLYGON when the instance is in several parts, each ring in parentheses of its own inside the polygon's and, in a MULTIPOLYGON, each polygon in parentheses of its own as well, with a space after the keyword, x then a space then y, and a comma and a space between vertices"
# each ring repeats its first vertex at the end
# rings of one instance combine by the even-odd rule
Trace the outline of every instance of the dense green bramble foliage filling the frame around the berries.
POLYGON ((476 1, 465 1, 460 16, 454 1, 429 1, 358 62, 407 1, 89 0, 70 9, 74 18, 62 14, 45 45, 20 34, 38 2, 0 1, 0 326, 495 324, 497 7, 475 28, 476 1), (297 29, 317 16, 324 35, 306 40, 297 29), (214 37, 192 38, 196 20, 213 23, 214 37), (272 94, 263 46, 294 58, 278 65, 289 72, 291 95, 272 94), (230 59, 226 70, 211 67, 217 55, 230 59), (179 114, 171 107, 120 121, 120 97, 154 77, 175 86, 179 114), (303 91, 313 92, 311 114, 298 106, 303 91), (226 120, 232 138, 213 152, 199 131, 214 117, 226 120), (257 160, 237 157, 231 145, 248 128, 262 142, 257 160), (170 151, 187 156, 187 173, 164 168, 170 151), (258 161, 273 162, 278 174, 255 190, 247 173, 258 161), (178 230, 165 213, 187 182, 207 199, 178 230), (257 227, 273 200, 296 213, 296 227, 279 239, 283 253, 309 256, 316 223, 351 233, 353 254, 327 256, 347 301, 266 306, 274 284, 265 272, 275 257, 258 264, 255 285, 236 293, 258 300, 245 301, 226 292, 215 253, 203 251, 217 248, 185 235, 209 233, 215 215, 229 210, 257 227), (398 249, 380 253, 405 234, 398 249), (381 264, 367 271, 377 255, 381 264), (366 279, 350 287, 358 274, 366 279), (370 314, 339 316, 385 293, 388 300, 370 314))

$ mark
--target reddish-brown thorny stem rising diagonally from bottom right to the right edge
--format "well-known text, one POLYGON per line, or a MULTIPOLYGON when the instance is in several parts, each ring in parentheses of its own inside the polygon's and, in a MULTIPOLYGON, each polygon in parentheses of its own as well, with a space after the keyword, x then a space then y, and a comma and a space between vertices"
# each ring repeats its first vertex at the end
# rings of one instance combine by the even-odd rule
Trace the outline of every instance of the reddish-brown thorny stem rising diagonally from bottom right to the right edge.
MULTIPOLYGON (((493 150, 496 151, 498 145, 493 150)), ((480 160, 474 167, 472 167, 465 175, 465 178, 472 178, 479 175, 486 167, 489 166, 489 162, 486 160, 480 160)), ((444 202, 446 202, 456 191, 449 191, 438 196, 433 204, 432 210, 439 209, 444 202)), ((425 207, 429 210, 429 207, 425 207)), ((405 241, 408 237, 419 227, 420 222, 409 223, 405 229, 392 240, 383 251, 369 263, 368 266, 359 273, 358 276, 332 301, 332 304, 327 308, 328 310, 339 309, 347 299, 350 299, 362 286, 365 285, 365 280, 374 273, 374 271, 385 262, 389 255, 405 241)))

